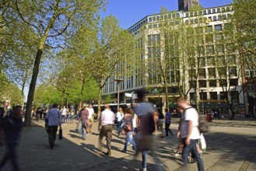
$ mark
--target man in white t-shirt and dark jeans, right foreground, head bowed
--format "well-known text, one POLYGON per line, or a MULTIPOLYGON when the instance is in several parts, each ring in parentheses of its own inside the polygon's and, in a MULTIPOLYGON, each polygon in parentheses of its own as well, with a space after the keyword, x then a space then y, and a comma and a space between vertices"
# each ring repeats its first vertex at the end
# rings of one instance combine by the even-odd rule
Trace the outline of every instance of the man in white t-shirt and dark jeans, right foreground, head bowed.
MULTIPOLYGON (((188 165, 188 155, 191 152, 198 164, 198 170, 203 171, 204 164, 201 156, 198 153, 198 140, 200 139, 200 132, 198 130, 198 112, 194 107, 187 103, 187 99, 183 97, 177 99, 177 106, 184 110, 184 118, 181 120, 183 125, 178 134, 181 134, 181 141, 184 145, 182 151, 182 160, 184 166, 188 165)), ((178 135, 177 134, 177 135, 178 135)))

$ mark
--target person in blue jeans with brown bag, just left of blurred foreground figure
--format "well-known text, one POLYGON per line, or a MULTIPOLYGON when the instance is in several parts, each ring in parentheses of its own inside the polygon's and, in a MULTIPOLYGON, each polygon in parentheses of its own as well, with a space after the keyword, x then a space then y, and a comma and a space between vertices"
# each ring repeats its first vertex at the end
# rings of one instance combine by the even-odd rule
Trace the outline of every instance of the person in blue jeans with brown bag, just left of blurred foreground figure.
POLYGON ((124 116, 124 130, 122 131, 123 134, 126 136, 125 138, 125 144, 124 144, 124 149, 122 150, 122 152, 126 152, 127 151, 127 146, 128 143, 132 144, 132 148, 134 150, 136 150, 136 144, 135 144, 135 140, 133 138, 133 116, 132 116, 132 109, 130 107, 125 109, 125 116, 124 116))

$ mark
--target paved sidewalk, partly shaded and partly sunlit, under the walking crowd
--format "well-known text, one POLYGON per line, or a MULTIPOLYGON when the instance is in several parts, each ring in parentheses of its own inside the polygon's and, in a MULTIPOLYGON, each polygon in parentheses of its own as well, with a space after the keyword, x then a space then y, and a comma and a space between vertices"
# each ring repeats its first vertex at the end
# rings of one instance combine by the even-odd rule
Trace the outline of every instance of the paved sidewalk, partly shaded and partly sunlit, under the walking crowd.
MULTIPOLYGON (((82 141, 75 131, 76 124, 65 124, 63 140, 56 141, 53 150, 47 143, 44 121, 40 120, 33 127, 24 127, 19 145, 19 165, 23 171, 80 171, 80 170, 139 170, 141 156, 136 159, 132 147, 128 153, 122 153, 124 137, 118 137, 116 131, 112 140, 112 155, 105 156, 98 149, 96 123, 93 134, 88 134, 82 141)), ((177 124, 171 125, 176 132, 177 124)), ((203 155, 205 170, 256 170, 256 130, 251 127, 213 126, 205 134, 207 151, 203 155), (250 132, 250 134, 247 134, 250 132)), ((175 156, 177 138, 158 138, 157 156, 165 170, 182 170, 181 157, 175 156)), ((0 156, 5 148, 0 148, 0 156)), ((149 170, 156 170, 155 162, 149 157, 149 170)), ((10 165, 5 171, 12 170, 10 165)), ((188 170, 197 170, 196 164, 190 164, 188 170)))

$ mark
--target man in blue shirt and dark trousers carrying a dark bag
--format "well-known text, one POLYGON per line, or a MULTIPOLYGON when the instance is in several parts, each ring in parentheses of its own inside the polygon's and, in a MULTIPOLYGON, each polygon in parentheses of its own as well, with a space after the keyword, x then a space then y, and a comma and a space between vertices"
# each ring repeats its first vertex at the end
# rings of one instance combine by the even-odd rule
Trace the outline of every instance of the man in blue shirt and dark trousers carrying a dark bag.
POLYGON ((47 123, 47 133, 49 135, 50 148, 54 148, 54 142, 56 140, 56 133, 58 126, 61 129, 61 113, 57 110, 57 104, 52 105, 52 109, 48 111, 45 117, 47 123))

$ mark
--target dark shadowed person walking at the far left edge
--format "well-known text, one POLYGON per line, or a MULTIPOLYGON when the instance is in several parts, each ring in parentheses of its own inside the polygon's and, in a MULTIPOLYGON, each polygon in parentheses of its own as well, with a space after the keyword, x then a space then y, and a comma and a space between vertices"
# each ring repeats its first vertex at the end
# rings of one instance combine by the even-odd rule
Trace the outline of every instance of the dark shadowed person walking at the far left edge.
POLYGON ((20 131, 22 129, 22 106, 15 106, 9 117, 5 117, 3 121, 3 128, 5 131, 5 144, 6 152, 0 162, 0 169, 5 166, 5 163, 12 159, 12 166, 15 171, 20 170, 17 161, 17 145, 20 137, 20 131))

